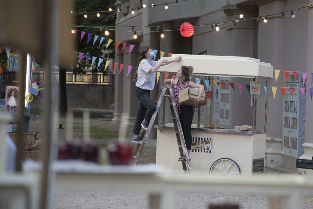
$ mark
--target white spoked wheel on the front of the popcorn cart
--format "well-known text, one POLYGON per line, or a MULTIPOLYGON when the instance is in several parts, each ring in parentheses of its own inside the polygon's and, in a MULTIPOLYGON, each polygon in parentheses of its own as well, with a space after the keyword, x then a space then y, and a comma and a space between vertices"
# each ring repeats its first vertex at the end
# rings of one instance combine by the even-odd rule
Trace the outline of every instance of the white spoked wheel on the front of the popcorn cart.
POLYGON ((210 175, 240 175, 240 168, 232 159, 221 158, 212 164, 210 175))

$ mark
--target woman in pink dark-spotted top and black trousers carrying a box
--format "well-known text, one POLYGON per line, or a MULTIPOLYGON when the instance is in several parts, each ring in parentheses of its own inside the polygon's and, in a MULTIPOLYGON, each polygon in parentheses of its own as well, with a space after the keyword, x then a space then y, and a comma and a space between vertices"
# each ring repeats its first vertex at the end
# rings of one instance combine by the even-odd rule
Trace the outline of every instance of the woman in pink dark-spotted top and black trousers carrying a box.
MULTIPOLYGON (((175 79, 166 79, 164 83, 171 83, 174 86, 174 97, 177 105, 180 123, 182 125, 182 133, 184 134, 185 143, 188 151, 188 155, 191 150, 192 136, 191 136, 191 124, 193 118, 193 107, 191 105, 180 104, 178 101, 178 94, 185 88, 198 88, 199 95, 195 98, 195 102, 200 101, 200 97, 203 93, 204 86, 194 83, 191 80, 193 68, 192 66, 182 66, 176 74, 175 79)), ((185 160, 185 157, 180 158, 185 160)))

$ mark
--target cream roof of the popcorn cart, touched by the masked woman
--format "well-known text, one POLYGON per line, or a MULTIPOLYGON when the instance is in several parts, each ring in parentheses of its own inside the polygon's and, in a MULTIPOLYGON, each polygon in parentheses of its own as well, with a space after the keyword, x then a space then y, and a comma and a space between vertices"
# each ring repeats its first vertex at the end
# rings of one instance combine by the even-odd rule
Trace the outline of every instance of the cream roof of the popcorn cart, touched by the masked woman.
POLYGON ((182 65, 189 65, 194 69, 193 75, 198 76, 273 78, 270 63, 250 57, 172 54, 172 57, 161 57, 160 60, 174 60, 177 56, 182 56, 180 62, 161 66, 158 72, 176 74, 182 65))

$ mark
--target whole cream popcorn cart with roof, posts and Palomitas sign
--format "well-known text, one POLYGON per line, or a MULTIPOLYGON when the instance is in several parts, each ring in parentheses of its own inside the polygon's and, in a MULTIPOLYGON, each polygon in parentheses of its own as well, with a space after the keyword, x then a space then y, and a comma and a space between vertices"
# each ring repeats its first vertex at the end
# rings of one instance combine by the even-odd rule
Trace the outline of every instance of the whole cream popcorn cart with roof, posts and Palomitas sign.
MULTIPOLYGON (((161 60, 172 60, 177 56, 182 56, 182 61, 162 66, 159 72, 176 74, 180 66, 190 65, 194 69, 193 76, 243 77, 251 78, 254 82, 257 82, 258 78, 265 78, 267 87, 269 86, 268 79, 273 77, 273 67, 269 63, 249 57, 173 54, 172 57, 162 57, 161 60)), ((252 121, 254 121, 256 98, 254 94, 251 95, 252 121)), ((266 97, 264 127, 266 127, 267 102, 266 97)), ((191 128, 192 172, 208 172, 210 175, 264 173, 266 128, 263 131, 255 130, 254 123, 252 130, 249 131, 200 128, 199 121, 198 118, 198 128, 191 128)), ((161 124, 155 128, 157 129, 156 165, 167 166, 175 172, 182 173, 182 165, 178 162, 180 155, 174 127, 161 124)))

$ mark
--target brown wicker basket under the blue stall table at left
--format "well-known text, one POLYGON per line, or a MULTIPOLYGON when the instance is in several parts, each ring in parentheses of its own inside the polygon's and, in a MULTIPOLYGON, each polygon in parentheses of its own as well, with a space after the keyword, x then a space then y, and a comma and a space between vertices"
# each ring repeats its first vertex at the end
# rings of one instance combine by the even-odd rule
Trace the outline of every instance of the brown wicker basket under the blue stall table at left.
MULTIPOLYGON (((23 133, 24 134, 24 142, 23 144, 35 144, 35 134, 36 133, 23 133)), ((12 138, 13 142, 16 145, 17 142, 17 133, 10 133, 9 136, 12 138)), ((23 151, 23 160, 34 160, 40 161, 41 159, 41 147, 36 147, 31 151, 23 151)))

